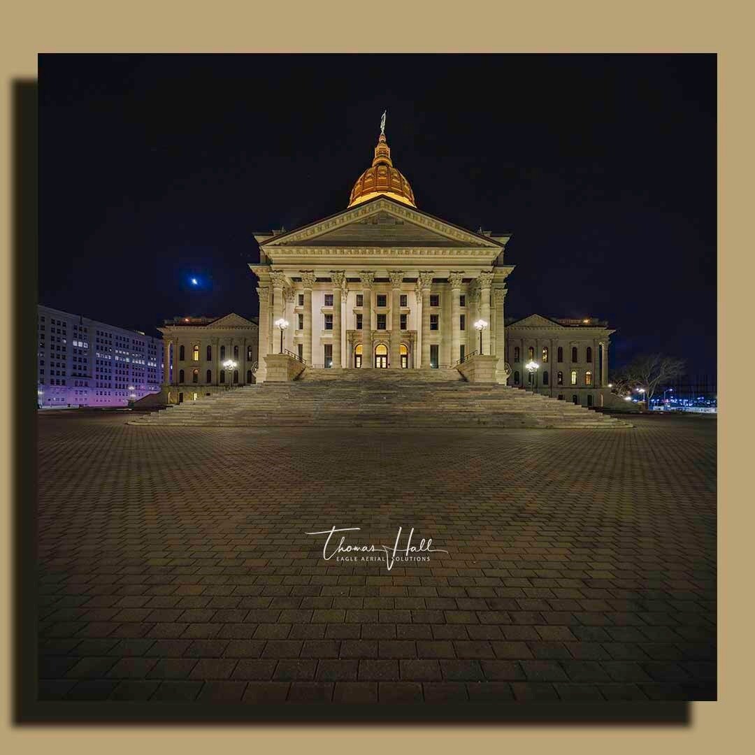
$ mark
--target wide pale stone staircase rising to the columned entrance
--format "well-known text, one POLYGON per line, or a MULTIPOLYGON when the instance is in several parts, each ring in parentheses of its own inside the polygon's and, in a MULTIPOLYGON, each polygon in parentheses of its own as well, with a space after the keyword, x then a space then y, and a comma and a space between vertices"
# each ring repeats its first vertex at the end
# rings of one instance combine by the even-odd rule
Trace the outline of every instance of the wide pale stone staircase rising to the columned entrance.
POLYGON ((307 368, 297 381, 245 386, 128 424, 178 427, 632 427, 624 420, 455 368, 307 368))

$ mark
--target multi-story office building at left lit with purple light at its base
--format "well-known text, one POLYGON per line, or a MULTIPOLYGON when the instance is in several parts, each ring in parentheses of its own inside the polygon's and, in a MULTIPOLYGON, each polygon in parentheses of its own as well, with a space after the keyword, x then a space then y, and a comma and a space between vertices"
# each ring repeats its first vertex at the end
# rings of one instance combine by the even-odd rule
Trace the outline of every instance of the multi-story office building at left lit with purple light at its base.
POLYGON ((127 406, 159 392, 161 375, 159 338, 37 307, 39 406, 127 406))

